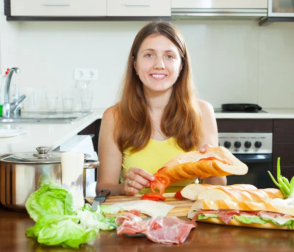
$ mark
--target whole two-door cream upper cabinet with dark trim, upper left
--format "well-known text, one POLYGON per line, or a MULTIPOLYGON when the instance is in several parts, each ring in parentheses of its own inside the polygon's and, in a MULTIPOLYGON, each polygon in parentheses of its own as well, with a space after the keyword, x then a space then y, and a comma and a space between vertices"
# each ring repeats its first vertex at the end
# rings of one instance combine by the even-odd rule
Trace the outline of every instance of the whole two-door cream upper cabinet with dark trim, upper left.
POLYGON ((7 21, 171 19, 171 0, 4 0, 7 21))

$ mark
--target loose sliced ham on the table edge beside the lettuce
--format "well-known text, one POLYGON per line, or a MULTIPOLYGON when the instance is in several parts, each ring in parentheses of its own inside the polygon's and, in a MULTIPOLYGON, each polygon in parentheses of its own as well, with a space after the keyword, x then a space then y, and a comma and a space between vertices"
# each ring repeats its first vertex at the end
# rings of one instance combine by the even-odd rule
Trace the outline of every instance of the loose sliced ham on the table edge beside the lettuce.
POLYGON ((196 227, 194 221, 187 222, 177 217, 158 217, 157 219, 151 218, 147 221, 142 221, 140 217, 131 213, 131 211, 125 216, 118 216, 116 222, 121 223, 121 226, 117 228, 118 235, 143 233, 151 241, 163 244, 183 243, 191 229, 196 227))

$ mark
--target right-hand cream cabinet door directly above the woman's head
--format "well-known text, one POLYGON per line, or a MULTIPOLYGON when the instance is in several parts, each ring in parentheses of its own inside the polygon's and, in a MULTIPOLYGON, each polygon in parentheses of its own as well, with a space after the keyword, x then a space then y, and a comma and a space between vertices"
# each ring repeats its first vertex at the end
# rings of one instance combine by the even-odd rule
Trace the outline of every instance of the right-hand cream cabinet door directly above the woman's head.
POLYGON ((107 0, 107 16, 170 17, 171 0, 107 0))

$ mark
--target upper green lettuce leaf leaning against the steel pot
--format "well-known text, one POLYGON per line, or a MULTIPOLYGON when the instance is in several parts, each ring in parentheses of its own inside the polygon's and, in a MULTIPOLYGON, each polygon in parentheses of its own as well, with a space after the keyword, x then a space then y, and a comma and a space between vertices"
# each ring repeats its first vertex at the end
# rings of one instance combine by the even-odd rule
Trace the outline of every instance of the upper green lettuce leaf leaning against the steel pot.
POLYGON ((46 214, 72 215, 76 213, 73 196, 58 184, 45 183, 25 202, 29 216, 37 222, 46 214))

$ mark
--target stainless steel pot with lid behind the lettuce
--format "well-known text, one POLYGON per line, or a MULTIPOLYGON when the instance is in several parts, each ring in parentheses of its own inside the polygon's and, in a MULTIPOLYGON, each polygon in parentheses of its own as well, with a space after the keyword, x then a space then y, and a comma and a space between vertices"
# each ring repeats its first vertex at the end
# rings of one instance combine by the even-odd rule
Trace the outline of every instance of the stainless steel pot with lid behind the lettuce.
MULTIPOLYGON (((0 203, 15 211, 26 211, 25 202, 45 182, 62 184, 61 153, 49 152, 48 147, 38 152, 21 152, 0 156, 0 203)), ((98 160, 87 160, 84 154, 83 191, 86 195, 86 169, 99 166, 98 160)))

